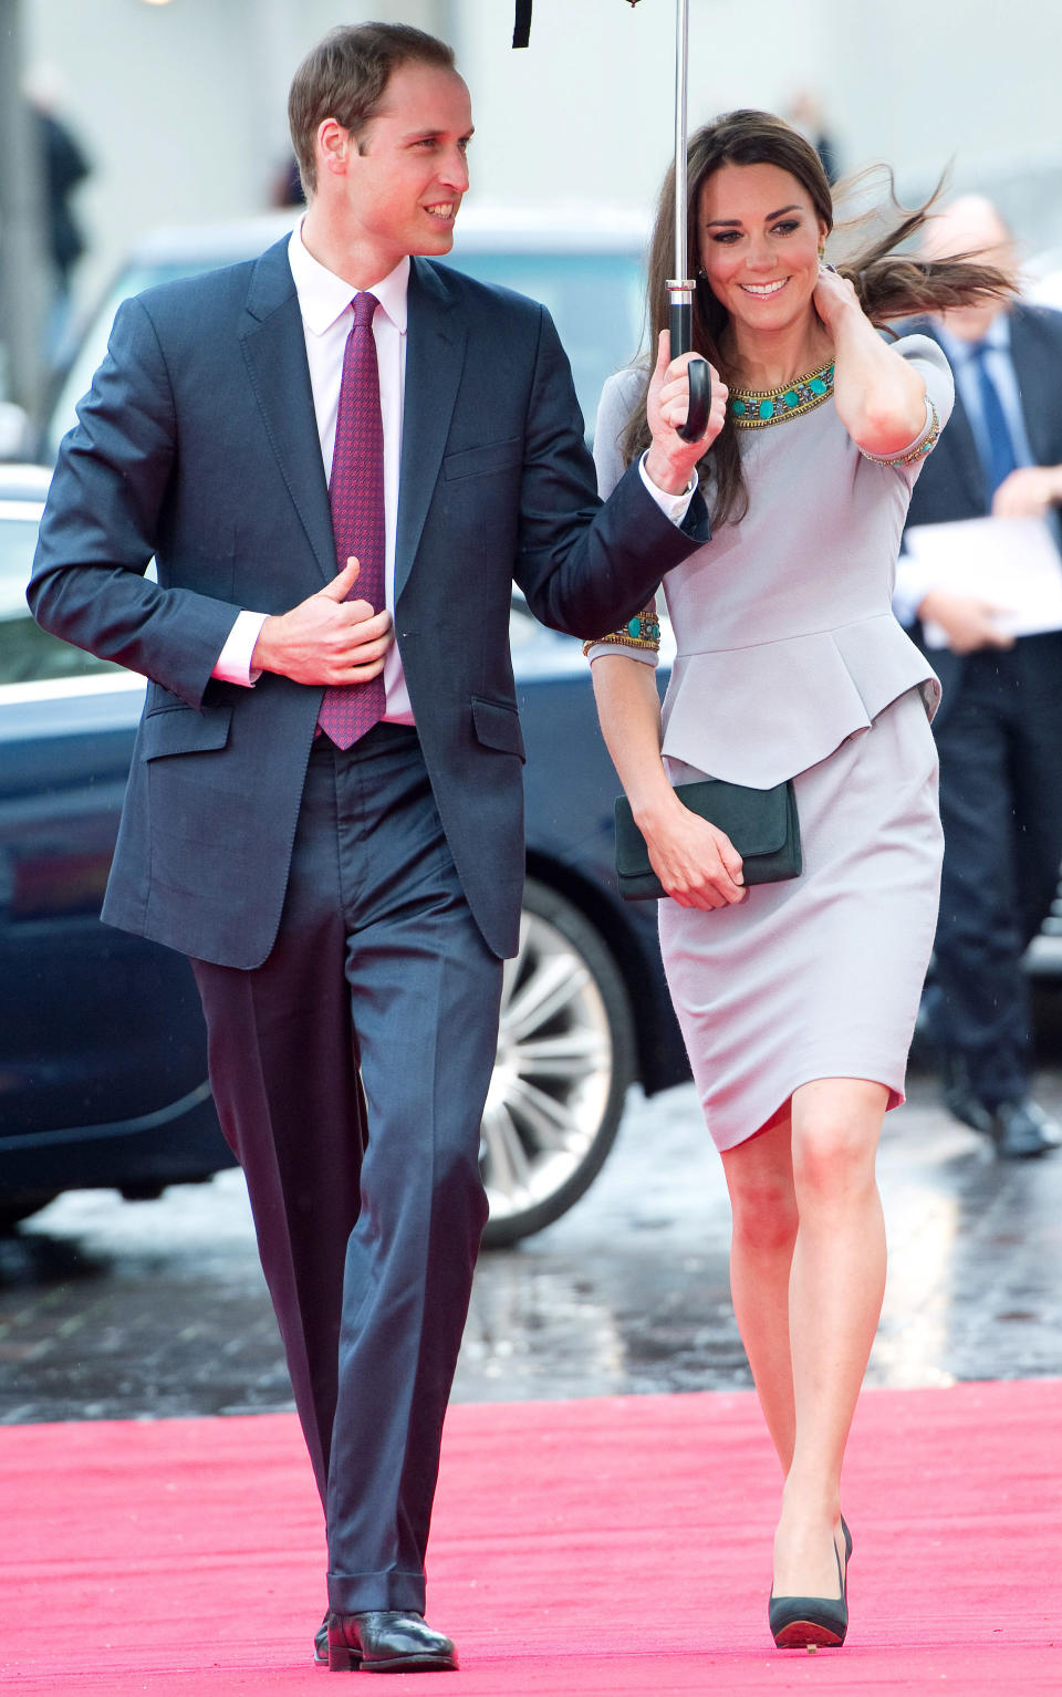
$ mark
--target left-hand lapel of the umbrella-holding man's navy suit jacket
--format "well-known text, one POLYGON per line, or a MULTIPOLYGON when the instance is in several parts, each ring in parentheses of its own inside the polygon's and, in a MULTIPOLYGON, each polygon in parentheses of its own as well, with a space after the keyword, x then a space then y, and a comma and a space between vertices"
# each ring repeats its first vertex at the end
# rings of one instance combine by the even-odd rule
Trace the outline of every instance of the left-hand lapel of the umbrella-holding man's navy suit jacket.
POLYGON ((314 416, 299 295, 288 238, 263 253, 251 277, 241 344, 280 475, 326 582, 336 575, 336 540, 314 416))

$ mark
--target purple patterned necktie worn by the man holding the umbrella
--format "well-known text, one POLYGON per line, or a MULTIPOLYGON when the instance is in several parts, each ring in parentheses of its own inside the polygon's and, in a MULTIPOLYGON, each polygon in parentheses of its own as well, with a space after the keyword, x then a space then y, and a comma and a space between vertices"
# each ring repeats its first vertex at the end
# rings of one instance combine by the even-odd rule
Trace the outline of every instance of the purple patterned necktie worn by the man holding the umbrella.
MULTIPOLYGON (((383 419, 380 370, 373 336, 375 295, 355 295, 355 324, 343 351, 343 382, 336 417, 336 448, 329 501, 339 570, 349 555, 360 562, 348 596, 383 609, 383 419)), ((349 748, 383 718, 383 674, 366 684, 331 684, 317 723, 338 748, 349 748)))

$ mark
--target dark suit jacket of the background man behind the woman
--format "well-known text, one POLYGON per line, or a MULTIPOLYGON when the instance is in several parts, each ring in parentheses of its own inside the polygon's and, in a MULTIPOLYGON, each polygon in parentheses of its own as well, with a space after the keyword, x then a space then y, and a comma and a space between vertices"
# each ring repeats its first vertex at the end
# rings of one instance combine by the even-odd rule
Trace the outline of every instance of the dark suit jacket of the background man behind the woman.
MULTIPOLYGON (((1011 360, 1030 451, 1037 465, 1062 465, 1062 312, 1052 312, 1050 307, 1014 305, 1009 321, 1011 360)), ((908 328, 940 341, 931 321, 908 328)), ((914 484, 908 524, 979 519, 987 511, 984 468, 957 387, 948 428, 940 433, 940 441, 914 484)), ((952 653, 950 648, 933 648, 930 658, 943 686, 940 728, 962 686, 964 655, 952 653)))

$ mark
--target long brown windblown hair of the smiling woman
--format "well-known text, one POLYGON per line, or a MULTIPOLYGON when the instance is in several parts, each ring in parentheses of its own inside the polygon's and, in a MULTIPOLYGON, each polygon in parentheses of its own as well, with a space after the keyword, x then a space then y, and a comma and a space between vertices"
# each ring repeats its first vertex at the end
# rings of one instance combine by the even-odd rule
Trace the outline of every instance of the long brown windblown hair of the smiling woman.
MULTIPOLYGON (((694 350, 719 372, 724 384, 731 384, 726 358, 721 350, 723 331, 728 324, 726 307, 714 297, 701 272, 701 190, 713 171, 723 165, 777 165, 789 171, 808 192, 814 214, 823 221, 828 232, 833 232, 833 193, 823 163, 799 131, 785 124, 772 112, 724 112, 721 117, 696 131, 687 148, 687 270, 685 277, 697 278, 694 297, 694 350)), ((955 260, 918 260, 896 249, 909 241, 931 216, 942 193, 943 183, 919 207, 913 210, 903 207, 896 199, 892 173, 887 168, 886 205, 875 207, 869 214, 838 226, 838 253, 833 263, 841 277, 847 277, 858 295, 860 305, 872 324, 886 328, 891 319, 908 317, 916 312, 942 312, 947 307, 964 305, 977 297, 1009 297, 1013 283, 1003 272, 989 265, 979 265, 974 258, 955 260), (840 251, 843 244, 843 255, 840 251)), ((836 185, 838 199, 853 195, 865 187, 867 176, 850 178, 848 183, 836 185)), ((648 322, 650 348, 655 350, 660 331, 667 329, 668 297, 667 282, 675 263, 675 170, 668 171, 660 202, 657 222, 650 243, 648 260, 648 322)), ((650 365, 651 368, 651 365, 650 365)), ((646 382, 638 397, 621 438, 624 460, 638 458, 650 443, 645 400, 646 382)), ((738 431, 723 429, 711 446, 711 460, 706 455, 701 462, 701 479, 707 477, 711 467, 711 507, 713 521, 724 524, 745 518, 748 511, 748 489, 741 470, 741 451, 738 431)))

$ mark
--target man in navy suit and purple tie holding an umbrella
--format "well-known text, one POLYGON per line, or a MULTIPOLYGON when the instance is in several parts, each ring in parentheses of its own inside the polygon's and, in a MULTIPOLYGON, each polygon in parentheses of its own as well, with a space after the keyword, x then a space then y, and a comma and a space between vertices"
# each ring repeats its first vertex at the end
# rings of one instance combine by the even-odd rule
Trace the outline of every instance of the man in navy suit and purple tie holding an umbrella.
POLYGON ((333 31, 290 117, 302 226, 122 305, 29 596, 149 679, 103 916, 193 961, 326 1505, 317 1658, 448 1668, 424 1551, 524 877, 512 579, 560 630, 631 618, 706 536, 702 445, 662 355, 601 507, 548 314, 421 258, 468 187, 450 48, 333 31))

